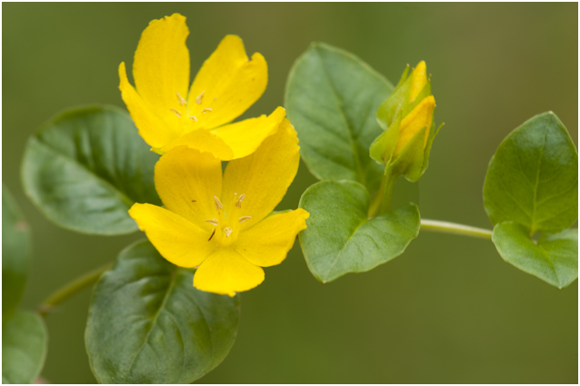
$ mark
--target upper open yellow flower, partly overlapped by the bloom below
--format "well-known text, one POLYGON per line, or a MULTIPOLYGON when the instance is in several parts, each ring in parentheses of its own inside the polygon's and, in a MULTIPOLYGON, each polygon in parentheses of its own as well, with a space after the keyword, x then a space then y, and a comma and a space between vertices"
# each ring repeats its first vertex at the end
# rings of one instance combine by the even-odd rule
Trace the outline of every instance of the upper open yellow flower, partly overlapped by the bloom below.
POLYGON ((119 88, 139 134, 152 150, 166 153, 185 145, 231 160, 253 153, 275 133, 285 117, 278 107, 269 116, 228 124, 264 93, 268 81, 264 56, 245 54, 242 39, 227 35, 204 63, 191 88, 189 35, 179 14, 152 21, 135 52, 133 77, 119 66, 119 88))

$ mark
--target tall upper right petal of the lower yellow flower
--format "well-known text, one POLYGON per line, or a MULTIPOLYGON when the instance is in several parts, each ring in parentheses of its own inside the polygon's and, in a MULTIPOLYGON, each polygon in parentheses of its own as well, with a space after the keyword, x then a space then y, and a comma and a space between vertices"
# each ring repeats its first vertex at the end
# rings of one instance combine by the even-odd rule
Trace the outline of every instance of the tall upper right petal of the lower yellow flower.
POLYGON ((222 191, 225 210, 233 213, 238 197, 245 194, 236 217, 252 217, 240 229, 259 222, 282 201, 298 170, 298 150, 294 127, 284 119, 278 131, 266 138, 255 153, 227 164, 222 191))

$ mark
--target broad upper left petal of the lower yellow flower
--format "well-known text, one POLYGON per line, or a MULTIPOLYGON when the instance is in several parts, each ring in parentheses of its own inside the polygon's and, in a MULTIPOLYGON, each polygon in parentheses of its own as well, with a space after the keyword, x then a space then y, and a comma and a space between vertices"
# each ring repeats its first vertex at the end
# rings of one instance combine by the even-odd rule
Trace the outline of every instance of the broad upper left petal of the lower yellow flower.
POLYGON ((213 231, 205 220, 218 217, 214 196, 222 193, 222 163, 210 153, 176 147, 155 164, 155 189, 165 208, 213 231))

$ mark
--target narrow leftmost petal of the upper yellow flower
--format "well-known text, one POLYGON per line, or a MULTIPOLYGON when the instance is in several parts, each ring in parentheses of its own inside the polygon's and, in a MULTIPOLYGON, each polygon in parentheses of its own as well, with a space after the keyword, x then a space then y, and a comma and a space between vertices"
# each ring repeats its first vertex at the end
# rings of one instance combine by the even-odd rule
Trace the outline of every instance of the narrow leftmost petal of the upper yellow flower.
POLYGON ((141 98, 135 91, 135 88, 129 83, 125 70, 125 63, 119 65, 119 78, 121 82, 119 89, 123 102, 125 102, 131 118, 139 129, 139 135, 143 137, 145 142, 152 147, 160 148, 169 144, 179 135, 182 130, 175 125, 175 116, 163 117, 155 114, 155 108, 141 98), (170 121, 170 119, 174 122, 170 121))

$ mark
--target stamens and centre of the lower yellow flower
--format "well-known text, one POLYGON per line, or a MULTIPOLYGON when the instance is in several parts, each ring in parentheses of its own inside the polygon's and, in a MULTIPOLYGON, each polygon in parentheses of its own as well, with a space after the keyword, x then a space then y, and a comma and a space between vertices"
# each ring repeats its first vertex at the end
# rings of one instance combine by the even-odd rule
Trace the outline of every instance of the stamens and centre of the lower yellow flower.
POLYGON ((230 245, 235 242, 237 235, 240 231, 240 224, 246 221, 252 220, 252 216, 242 216, 240 215, 240 210, 245 199, 245 193, 235 195, 234 205, 231 208, 227 208, 228 211, 224 210, 224 204, 214 196, 214 206, 216 211, 216 217, 211 219, 205 219, 207 223, 212 224, 215 228, 214 231, 209 236, 208 241, 219 242, 222 245, 230 245))

